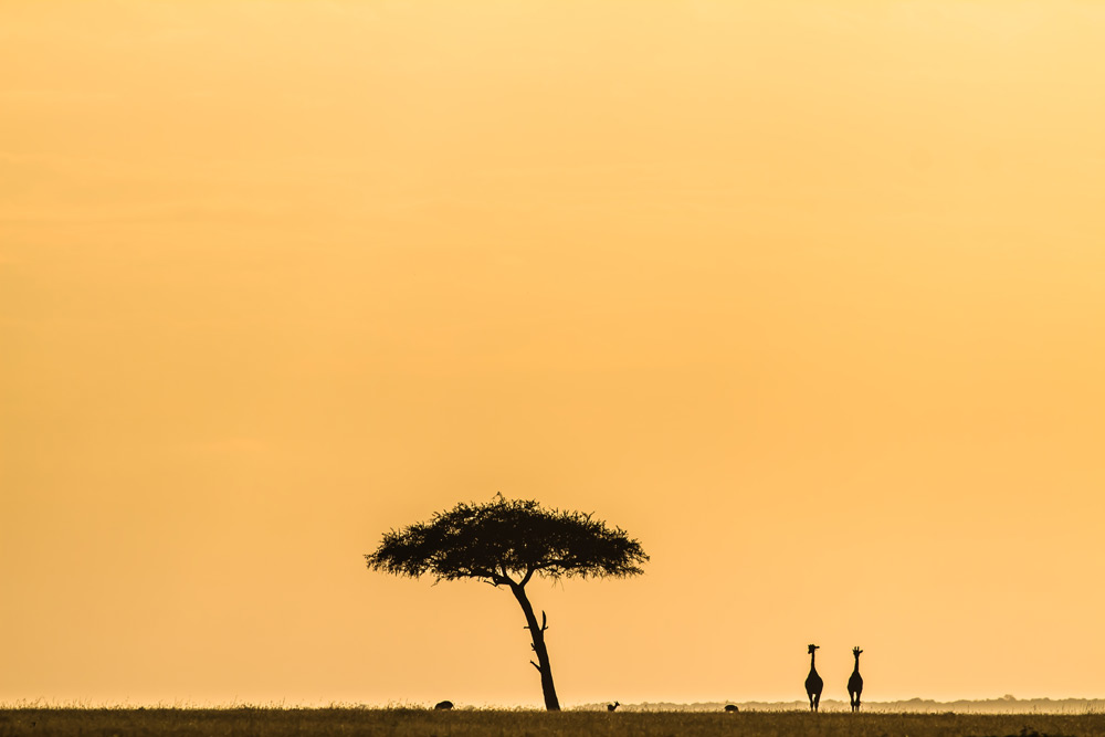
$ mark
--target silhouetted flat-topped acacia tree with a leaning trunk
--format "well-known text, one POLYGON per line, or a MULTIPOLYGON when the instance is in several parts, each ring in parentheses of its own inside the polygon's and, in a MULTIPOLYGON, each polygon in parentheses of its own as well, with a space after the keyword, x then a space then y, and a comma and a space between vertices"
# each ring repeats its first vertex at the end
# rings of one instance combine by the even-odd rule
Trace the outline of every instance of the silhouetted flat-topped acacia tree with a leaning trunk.
POLYGON ((365 556, 371 570, 436 580, 473 578, 495 588, 507 587, 526 615, 541 675, 545 708, 560 709, 552 684, 545 631, 526 596, 534 576, 624 578, 642 573, 649 556, 623 529, 608 527, 591 514, 544 509, 537 502, 496 495, 486 504, 457 504, 434 513, 430 522, 385 534, 375 552, 365 556))

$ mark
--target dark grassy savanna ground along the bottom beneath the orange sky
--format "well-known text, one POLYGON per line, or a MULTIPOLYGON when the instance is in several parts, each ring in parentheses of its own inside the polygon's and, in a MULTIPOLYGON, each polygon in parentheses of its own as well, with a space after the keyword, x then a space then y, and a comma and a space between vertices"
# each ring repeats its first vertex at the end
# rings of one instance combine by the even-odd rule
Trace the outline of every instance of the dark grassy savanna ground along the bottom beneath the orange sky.
POLYGON ((1082 737, 1105 714, 704 714, 410 708, 0 709, 8 735, 396 735, 397 737, 1082 737))

